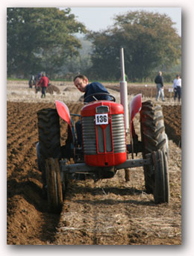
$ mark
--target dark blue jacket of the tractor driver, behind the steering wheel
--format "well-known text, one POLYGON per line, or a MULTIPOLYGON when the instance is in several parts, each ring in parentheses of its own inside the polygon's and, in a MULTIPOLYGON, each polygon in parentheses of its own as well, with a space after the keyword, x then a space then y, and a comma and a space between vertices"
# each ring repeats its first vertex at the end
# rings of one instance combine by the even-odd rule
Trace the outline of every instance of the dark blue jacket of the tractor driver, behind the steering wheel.
MULTIPOLYGON (((93 82, 91 84, 87 84, 86 87, 86 93, 84 94, 84 99, 94 93, 108 93, 107 89, 104 88, 104 86, 102 84, 100 84, 99 82, 93 82)), ((107 101, 111 100, 110 96, 107 95, 97 95, 95 96, 96 99, 101 100, 101 99, 105 99, 107 101)), ((85 102, 94 102, 95 99, 91 96, 88 99, 86 99, 85 102)))

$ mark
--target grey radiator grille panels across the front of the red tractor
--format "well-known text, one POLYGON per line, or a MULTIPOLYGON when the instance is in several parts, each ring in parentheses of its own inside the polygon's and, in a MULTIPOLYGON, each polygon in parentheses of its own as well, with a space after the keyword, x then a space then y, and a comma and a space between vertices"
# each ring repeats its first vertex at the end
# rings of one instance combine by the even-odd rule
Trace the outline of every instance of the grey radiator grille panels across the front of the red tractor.
MULTIPOLYGON (((111 127, 107 125, 105 129, 106 137, 106 151, 107 152, 125 152, 125 124, 123 114, 115 114, 111 116, 112 119, 112 133, 113 133, 113 147, 111 141, 111 127)), ((84 154, 97 154, 96 146, 96 124, 94 116, 82 117, 82 129, 84 140, 84 154)), ((104 134, 102 128, 97 125, 98 134, 98 151, 104 152, 104 134)))

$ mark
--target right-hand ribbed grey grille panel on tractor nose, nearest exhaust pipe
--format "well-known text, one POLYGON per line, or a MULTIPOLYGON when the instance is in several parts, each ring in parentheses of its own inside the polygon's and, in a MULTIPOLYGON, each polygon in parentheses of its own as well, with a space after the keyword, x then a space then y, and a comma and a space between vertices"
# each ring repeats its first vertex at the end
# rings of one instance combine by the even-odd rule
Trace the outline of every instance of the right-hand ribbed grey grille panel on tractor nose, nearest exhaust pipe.
POLYGON ((123 114, 112 115, 113 151, 125 152, 125 124, 123 114))

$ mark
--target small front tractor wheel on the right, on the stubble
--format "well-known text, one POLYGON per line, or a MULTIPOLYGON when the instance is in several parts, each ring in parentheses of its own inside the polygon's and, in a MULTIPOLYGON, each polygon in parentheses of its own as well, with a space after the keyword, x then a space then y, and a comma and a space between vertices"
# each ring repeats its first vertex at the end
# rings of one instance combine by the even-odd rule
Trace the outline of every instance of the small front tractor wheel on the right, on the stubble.
POLYGON ((154 163, 154 202, 169 203, 169 168, 166 154, 158 150, 152 152, 154 163))

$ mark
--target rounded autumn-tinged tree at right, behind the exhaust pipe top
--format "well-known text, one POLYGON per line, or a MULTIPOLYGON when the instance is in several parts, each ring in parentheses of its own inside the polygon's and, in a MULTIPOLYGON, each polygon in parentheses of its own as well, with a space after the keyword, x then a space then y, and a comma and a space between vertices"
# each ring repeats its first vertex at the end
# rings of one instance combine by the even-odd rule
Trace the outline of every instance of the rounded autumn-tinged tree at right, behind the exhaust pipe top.
POLYGON ((148 78, 159 66, 178 63, 181 37, 166 14, 145 11, 118 15, 112 28, 90 32, 93 42, 93 72, 99 78, 120 78, 119 49, 125 51, 125 71, 131 81, 148 78))

